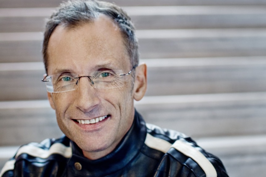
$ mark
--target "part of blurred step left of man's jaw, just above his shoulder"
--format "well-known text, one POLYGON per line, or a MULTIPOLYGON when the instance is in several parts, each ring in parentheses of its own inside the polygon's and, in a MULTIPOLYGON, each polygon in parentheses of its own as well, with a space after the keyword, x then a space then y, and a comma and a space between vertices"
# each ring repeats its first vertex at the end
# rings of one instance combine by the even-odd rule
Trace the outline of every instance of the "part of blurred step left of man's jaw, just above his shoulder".
POLYGON ((13 102, 17 107, 11 108, 8 107, 10 103, 12 102, 1 103, 5 109, 1 109, 0 113, 0 139, 3 140, 0 146, 40 142, 41 139, 60 137, 63 134, 57 125, 55 111, 49 107, 48 100, 13 102), (45 102, 46 106, 40 102, 45 102))

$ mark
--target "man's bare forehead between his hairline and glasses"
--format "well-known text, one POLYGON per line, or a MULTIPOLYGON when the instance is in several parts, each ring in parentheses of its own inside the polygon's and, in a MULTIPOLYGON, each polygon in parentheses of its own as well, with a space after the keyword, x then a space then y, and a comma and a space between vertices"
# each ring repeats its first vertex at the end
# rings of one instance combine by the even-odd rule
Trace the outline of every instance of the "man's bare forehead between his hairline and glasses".
POLYGON ((114 69, 130 68, 122 34, 105 15, 74 28, 57 26, 48 43, 48 74, 55 70, 94 70, 111 64, 114 69))

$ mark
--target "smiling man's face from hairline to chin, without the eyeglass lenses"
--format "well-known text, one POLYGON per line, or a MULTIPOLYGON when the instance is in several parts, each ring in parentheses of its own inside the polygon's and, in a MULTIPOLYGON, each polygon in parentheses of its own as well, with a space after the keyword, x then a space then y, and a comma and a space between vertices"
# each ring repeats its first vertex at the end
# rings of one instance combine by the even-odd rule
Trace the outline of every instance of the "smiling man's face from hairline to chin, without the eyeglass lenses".
MULTIPOLYGON (((48 75, 89 76, 99 70, 127 73, 132 69, 118 27, 103 15, 73 29, 56 27, 49 40, 48 57, 48 75)), ((110 153, 131 127, 133 78, 126 77, 127 82, 119 88, 96 89, 90 85, 89 78, 82 77, 77 90, 48 93, 60 129, 89 159, 110 153), (98 123, 78 123, 102 117, 105 119, 98 123)))

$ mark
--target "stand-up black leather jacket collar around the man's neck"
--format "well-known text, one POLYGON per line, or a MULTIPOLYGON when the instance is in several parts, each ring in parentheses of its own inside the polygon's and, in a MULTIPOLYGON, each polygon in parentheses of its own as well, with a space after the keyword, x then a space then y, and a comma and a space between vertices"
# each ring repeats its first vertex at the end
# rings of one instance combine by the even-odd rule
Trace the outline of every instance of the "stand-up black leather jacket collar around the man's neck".
MULTIPOLYGON (((122 141, 110 154, 97 160, 89 160, 82 154, 81 149, 76 143, 71 141, 73 155, 69 159, 68 165, 73 167, 71 173, 77 173, 78 176, 105 176, 112 174, 125 167, 132 159, 138 155, 146 138, 146 125, 141 115, 135 111, 134 121, 124 136, 122 141), (78 162, 82 166, 81 171, 74 168, 74 164, 78 162)), ((73 175, 74 175, 73 174, 73 175)))

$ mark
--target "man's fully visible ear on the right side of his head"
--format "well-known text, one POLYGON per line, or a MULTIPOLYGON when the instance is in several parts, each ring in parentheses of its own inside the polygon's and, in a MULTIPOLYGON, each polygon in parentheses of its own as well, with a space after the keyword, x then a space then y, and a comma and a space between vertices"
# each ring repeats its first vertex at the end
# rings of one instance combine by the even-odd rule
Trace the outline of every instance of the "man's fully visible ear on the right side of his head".
POLYGON ((139 101, 147 90, 147 66, 145 63, 136 67, 135 84, 133 88, 133 98, 139 101))

